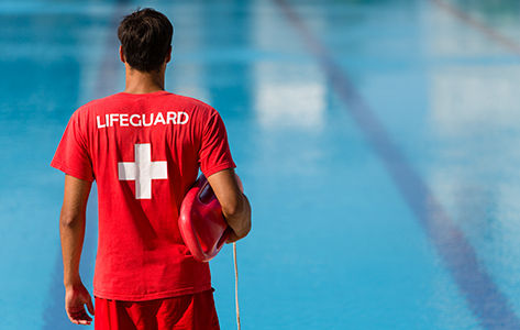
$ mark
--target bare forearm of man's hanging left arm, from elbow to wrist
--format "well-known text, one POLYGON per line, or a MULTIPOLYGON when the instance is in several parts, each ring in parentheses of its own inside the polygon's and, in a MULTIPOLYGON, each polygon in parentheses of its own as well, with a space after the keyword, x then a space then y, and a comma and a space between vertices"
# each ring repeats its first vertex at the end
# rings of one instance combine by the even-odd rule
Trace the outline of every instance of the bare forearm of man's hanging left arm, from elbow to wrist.
POLYGON ((85 216, 77 216, 76 218, 62 217, 59 235, 62 239, 64 285, 67 287, 81 282, 79 260, 85 239, 85 216))

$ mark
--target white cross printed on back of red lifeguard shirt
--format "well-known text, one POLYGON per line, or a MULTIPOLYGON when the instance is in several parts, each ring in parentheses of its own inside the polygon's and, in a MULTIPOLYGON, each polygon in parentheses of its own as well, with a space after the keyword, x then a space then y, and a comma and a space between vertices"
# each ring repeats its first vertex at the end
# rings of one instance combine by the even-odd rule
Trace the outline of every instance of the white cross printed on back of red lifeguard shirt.
POLYGON ((119 162, 120 180, 135 180, 135 198, 152 199, 152 179, 167 179, 166 161, 152 162, 152 145, 135 144, 135 162, 119 162))

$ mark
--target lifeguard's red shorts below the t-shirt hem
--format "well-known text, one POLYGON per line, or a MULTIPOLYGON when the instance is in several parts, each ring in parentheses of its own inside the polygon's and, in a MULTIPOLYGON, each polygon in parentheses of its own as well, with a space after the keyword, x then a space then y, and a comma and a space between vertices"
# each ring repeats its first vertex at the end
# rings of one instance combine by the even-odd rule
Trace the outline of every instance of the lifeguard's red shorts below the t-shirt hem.
POLYGON ((212 289, 146 301, 95 300, 96 330, 220 329, 212 289))

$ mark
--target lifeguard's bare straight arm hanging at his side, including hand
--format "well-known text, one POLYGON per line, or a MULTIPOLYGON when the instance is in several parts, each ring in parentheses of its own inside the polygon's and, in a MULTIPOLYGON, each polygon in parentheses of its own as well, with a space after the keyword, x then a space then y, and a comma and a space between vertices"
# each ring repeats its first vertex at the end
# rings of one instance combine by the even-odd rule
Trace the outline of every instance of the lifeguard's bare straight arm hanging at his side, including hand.
POLYGON ((92 299, 79 277, 79 260, 85 239, 87 200, 92 183, 65 175, 65 191, 59 217, 64 265, 65 310, 73 323, 90 324, 84 305, 93 315, 92 299))

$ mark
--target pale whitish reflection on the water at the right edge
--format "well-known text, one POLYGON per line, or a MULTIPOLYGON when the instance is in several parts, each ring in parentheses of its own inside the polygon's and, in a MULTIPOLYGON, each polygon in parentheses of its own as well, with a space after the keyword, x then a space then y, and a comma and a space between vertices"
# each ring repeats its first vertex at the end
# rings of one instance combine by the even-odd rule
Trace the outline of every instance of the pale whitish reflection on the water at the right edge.
POLYGON ((433 129, 441 134, 471 136, 518 128, 518 77, 520 65, 435 69, 430 75, 433 129))

